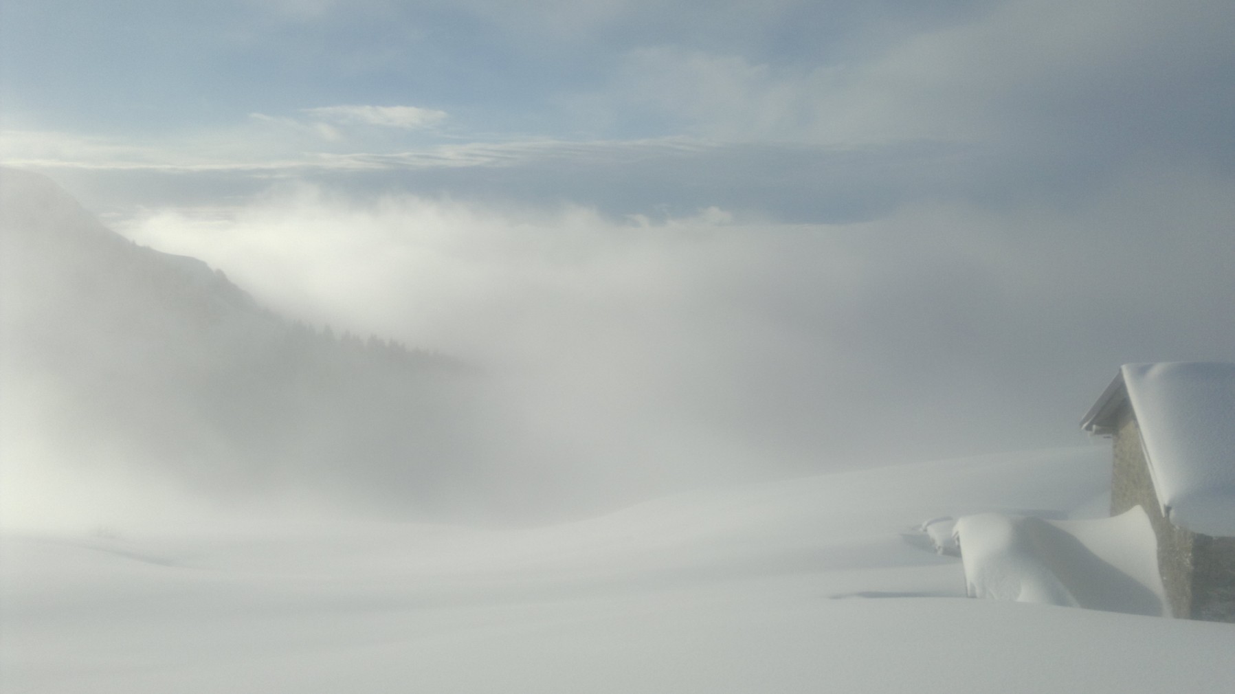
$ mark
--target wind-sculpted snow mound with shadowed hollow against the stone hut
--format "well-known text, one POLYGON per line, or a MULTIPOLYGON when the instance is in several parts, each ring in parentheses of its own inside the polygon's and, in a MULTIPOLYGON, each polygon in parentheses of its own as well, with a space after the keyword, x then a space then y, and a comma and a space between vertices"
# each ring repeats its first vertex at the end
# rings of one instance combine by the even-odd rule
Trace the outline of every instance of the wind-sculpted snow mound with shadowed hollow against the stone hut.
POLYGON ((1170 615, 1157 540, 1140 506, 1068 521, 979 514, 957 520, 955 532, 972 598, 1170 615))

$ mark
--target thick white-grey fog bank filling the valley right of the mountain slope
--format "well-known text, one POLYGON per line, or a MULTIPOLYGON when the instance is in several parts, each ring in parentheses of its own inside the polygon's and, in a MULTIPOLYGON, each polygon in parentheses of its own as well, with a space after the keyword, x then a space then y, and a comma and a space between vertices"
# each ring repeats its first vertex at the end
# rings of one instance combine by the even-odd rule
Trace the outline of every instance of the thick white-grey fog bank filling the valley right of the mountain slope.
POLYGON ((1119 363, 1231 356, 1223 190, 1131 179, 1073 209, 788 225, 294 186, 124 228, 290 315, 521 379, 548 438, 604 432, 580 458, 634 446, 672 479, 1077 441, 1119 363))

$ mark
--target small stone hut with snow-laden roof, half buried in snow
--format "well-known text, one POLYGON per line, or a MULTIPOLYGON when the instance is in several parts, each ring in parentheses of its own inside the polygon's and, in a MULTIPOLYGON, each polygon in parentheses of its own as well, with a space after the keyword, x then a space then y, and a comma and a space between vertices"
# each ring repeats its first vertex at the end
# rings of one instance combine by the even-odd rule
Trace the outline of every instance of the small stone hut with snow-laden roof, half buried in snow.
POLYGON ((1114 440, 1110 511, 1149 514, 1171 612, 1235 622, 1235 364, 1125 364, 1081 426, 1114 440))

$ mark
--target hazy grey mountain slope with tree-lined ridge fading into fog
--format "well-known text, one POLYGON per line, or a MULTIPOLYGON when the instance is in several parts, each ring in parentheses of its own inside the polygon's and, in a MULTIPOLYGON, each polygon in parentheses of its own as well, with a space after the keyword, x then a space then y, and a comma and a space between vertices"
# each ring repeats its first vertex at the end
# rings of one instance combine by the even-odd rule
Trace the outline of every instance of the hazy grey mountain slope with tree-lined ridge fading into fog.
POLYGON ((478 494, 473 369, 277 316, 38 174, 2 169, 0 190, 6 436, 221 498, 310 490, 424 515, 478 494))

